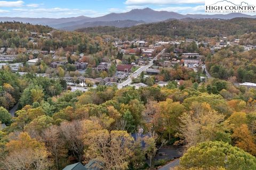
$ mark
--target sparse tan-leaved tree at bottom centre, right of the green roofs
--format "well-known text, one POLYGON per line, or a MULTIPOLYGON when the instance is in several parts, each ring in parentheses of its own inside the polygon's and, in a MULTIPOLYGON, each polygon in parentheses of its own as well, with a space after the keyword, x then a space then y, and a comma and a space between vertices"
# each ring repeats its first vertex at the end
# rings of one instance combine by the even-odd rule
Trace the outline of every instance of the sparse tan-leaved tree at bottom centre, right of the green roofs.
POLYGON ((92 131, 86 139, 89 148, 87 159, 99 158, 106 164, 104 169, 127 169, 133 156, 134 139, 126 131, 92 131))

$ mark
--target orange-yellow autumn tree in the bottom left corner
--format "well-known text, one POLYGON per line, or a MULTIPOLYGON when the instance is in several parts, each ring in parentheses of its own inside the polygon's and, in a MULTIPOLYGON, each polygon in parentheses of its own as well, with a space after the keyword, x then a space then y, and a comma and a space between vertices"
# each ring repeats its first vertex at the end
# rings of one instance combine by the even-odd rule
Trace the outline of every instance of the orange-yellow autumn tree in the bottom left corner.
POLYGON ((22 132, 16 140, 6 143, 7 156, 2 164, 7 169, 37 169, 49 168, 48 152, 44 144, 32 139, 28 133, 22 132))

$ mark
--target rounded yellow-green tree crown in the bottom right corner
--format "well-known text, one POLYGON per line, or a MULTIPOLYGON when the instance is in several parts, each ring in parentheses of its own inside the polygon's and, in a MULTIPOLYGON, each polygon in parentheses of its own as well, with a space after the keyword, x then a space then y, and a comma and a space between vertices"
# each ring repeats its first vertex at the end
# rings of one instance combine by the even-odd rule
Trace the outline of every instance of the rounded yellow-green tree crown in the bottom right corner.
POLYGON ((225 167, 227 170, 256 169, 256 158, 247 152, 222 141, 198 143, 180 158, 184 168, 225 167))

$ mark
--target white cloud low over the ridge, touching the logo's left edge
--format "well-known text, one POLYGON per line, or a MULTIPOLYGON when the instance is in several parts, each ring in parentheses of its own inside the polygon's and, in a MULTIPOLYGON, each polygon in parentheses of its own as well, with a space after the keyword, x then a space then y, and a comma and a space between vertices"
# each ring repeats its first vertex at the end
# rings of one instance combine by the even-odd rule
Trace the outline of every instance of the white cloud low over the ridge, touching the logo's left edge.
POLYGON ((170 7, 162 7, 155 9, 156 11, 170 11, 170 12, 178 12, 181 14, 198 14, 198 13, 204 13, 204 5, 198 5, 198 6, 170 6, 170 7))

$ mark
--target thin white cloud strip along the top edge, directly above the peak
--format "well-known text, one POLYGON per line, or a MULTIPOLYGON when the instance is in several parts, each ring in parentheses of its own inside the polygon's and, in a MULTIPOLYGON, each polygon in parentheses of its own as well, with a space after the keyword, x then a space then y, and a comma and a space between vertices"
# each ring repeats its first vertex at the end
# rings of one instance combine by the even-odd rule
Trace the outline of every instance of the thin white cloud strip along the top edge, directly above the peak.
POLYGON ((204 3, 204 0, 126 0, 126 5, 164 5, 164 4, 198 4, 204 3))

